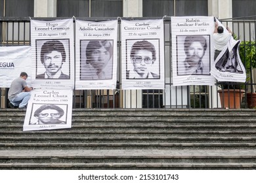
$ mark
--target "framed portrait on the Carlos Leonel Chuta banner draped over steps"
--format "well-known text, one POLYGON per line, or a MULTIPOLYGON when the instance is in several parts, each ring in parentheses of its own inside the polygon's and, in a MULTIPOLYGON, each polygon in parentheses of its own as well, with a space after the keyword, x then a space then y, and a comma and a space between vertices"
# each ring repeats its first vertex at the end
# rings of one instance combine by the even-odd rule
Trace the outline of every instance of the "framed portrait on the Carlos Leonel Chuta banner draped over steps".
POLYGON ((33 103, 29 125, 66 124, 67 110, 68 105, 33 103))

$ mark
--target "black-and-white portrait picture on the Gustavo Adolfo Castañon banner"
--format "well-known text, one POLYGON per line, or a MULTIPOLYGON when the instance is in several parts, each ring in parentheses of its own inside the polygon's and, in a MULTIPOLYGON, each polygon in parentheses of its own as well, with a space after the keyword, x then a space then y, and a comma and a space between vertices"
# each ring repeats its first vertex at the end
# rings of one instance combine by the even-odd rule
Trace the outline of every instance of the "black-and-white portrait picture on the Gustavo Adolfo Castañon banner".
POLYGON ((80 80, 113 77, 113 40, 80 41, 80 80))

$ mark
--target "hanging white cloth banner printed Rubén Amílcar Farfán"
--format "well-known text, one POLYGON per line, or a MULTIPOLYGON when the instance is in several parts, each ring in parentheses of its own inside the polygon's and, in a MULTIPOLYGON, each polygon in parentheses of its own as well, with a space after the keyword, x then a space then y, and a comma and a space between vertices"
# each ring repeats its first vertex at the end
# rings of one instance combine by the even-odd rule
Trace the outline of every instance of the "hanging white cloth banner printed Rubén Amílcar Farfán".
POLYGON ((214 85, 211 16, 171 17, 173 85, 214 85))

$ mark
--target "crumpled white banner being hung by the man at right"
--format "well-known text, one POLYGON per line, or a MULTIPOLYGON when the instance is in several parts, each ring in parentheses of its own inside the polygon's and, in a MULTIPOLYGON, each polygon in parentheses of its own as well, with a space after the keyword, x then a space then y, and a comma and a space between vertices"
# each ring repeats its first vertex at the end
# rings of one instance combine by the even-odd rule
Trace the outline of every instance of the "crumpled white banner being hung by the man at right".
MULTIPOLYGON (((224 31, 228 31, 219 20, 216 19, 219 26, 222 26, 224 31)), ((211 74, 220 82, 245 82, 246 72, 244 64, 239 55, 240 40, 230 40, 221 50, 219 56, 211 65, 211 74)))

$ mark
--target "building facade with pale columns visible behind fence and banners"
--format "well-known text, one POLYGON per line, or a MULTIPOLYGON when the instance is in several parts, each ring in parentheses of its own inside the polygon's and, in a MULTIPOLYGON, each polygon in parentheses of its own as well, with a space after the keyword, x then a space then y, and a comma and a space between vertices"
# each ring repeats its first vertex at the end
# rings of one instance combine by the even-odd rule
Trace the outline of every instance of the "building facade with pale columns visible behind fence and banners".
MULTIPOLYGON (((215 16, 221 19, 250 17, 256 14, 254 0, 0 0, 0 18, 18 20, 19 18, 65 18, 84 17, 88 20, 107 20, 117 17, 161 18, 163 16, 215 16)), ((24 41, 16 42, 7 32, 14 31, 16 25, 1 23, 0 46, 30 44, 29 24, 24 23, 24 41), (27 38, 26 38, 27 37, 27 38)), ((232 24, 230 22, 230 24, 232 24)), ((165 24, 170 32, 169 23, 165 24)), ((255 29, 254 29, 255 30, 255 29)), ((17 33, 20 34, 20 33, 17 33)), ((23 31, 22 31, 23 34, 23 31)), ((20 34, 20 35, 22 35, 20 34)), ((254 32, 255 34, 255 32, 254 32)), ((18 36, 20 37, 20 36, 18 36)), ((168 37, 168 36, 166 36, 168 37)), ((255 37, 254 37, 255 39, 255 37)), ((171 40, 165 38, 165 67, 171 68, 171 40)), ((120 58, 119 58, 120 59, 120 58)), ((74 92, 74 107, 78 108, 215 108, 219 107, 216 86, 171 86, 171 69, 165 69, 165 86, 162 90, 87 90, 74 92), (200 99, 197 105, 197 99, 200 99), (186 102, 183 102, 186 101, 186 102)), ((118 74, 118 73, 117 73, 118 74)), ((1 95, 5 95, 2 89, 1 95)), ((2 97, 3 98, 3 97, 2 97)), ((6 98, 5 98, 6 100, 6 98)), ((2 107, 5 106, 3 104, 2 107)))

